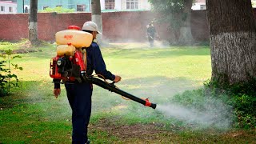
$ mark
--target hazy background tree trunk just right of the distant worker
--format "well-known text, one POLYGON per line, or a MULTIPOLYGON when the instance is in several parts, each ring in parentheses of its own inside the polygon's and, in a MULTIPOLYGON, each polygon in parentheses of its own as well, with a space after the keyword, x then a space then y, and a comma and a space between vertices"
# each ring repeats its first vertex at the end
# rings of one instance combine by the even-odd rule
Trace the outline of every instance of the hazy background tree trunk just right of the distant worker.
POLYGON ((183 13, 186 14, 186 20, 179 30, 178 42, 182 44, 192 44, 194 38, 191 33, 191 7, 193 0, 186 0, 183 13))

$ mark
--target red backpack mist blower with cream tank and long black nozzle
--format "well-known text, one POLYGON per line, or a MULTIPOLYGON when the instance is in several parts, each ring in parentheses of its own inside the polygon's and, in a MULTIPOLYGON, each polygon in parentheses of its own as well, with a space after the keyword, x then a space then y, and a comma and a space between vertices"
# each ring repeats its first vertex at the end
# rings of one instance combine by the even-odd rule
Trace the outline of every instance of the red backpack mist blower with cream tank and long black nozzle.
MULTIPOLYGON (((93 41, 92 34, 81 31, 78 26, 69 26, 69 30, 62 30, 55 34, 57 43, 57 56, 50 60, 50 77, 65 82, 90 82, 106 90, 110 90, 123 97, 129 98, 144 106, 156 108, 148 98, 142 99, 114 86, 114 82, 108 83, 93 75, 86 74, 86 51, 93 41)), ((102 78, 102 76, 101 76, 102 78)))

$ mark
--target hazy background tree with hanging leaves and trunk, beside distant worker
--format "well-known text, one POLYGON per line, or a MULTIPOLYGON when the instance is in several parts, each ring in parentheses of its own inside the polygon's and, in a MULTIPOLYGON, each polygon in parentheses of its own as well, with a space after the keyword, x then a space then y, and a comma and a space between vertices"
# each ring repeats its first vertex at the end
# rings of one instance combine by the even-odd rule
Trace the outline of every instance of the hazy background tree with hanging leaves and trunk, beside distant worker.
POLYGON ((190 44, 194 42, 191 34, 190 16, 193 0, 149 0, 157 11, 159 22, 169 25, 171 43, 190 44))

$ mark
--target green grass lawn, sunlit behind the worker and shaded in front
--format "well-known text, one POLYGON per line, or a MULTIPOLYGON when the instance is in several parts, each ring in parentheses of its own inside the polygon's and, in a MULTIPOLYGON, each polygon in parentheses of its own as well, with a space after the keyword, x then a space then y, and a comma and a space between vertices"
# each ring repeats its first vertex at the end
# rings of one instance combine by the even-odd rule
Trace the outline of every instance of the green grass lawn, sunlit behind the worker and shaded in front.
MULTIPOLYGON (((11 47, 11 46, 10 46, 11 47)), ((8 47, 9 48, 9 47, 8 47)), ((0 50, 6 50, 0 46, 0 50)), ((70 143, 71 111, 62 86, 53 96, 49 76, 53 45, 42 52, 19 54, 12 70, 21 86, 0 98, 0 143, 70 143)), ((168 102, 175 94, 202 87, 210 78, 210 49, 206 46, 149 48, 145 44, 102 47, 107 69, 122 76, 116 85, 151 102, 168 102)), ((94 86, 89 137, 94 143, 254 143, 255 130, 191 130, 187 124, 94 86), (180 123, 180 124, 178 124, 180 123)))

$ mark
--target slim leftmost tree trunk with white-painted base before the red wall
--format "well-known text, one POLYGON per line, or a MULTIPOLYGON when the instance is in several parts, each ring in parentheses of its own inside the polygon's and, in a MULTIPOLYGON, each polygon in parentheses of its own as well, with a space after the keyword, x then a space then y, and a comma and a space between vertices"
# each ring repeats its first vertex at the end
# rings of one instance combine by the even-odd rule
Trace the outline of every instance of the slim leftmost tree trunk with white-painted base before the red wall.
POLYGON ((30 0, 29 40, 32 45, 38 44, 38 0, 30 0))

